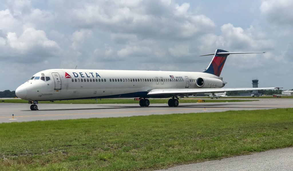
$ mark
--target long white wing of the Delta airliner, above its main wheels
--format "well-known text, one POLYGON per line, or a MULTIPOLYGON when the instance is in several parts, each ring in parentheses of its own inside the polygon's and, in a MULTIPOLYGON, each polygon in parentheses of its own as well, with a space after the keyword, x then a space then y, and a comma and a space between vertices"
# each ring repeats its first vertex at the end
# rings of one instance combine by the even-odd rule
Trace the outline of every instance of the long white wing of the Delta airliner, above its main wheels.
POLYGON ((279 89, 279 87, 265 88, 189 88, 189 89, 153 89, 147 95, 188 95, 195 93, 212 93, 225 91, 240 91, 240 90, 270 90, 279 89))

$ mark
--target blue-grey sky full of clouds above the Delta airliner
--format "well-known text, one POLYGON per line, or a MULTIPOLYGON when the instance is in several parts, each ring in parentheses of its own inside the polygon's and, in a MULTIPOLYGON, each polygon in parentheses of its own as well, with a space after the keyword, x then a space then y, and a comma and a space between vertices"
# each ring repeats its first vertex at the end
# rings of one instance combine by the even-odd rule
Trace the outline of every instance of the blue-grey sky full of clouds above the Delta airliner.
POLYGON ((230 55, 225 88, 293 88, 292 0, 7 0, 0 4, 0 90, 45 69, 203 71, 230 55))

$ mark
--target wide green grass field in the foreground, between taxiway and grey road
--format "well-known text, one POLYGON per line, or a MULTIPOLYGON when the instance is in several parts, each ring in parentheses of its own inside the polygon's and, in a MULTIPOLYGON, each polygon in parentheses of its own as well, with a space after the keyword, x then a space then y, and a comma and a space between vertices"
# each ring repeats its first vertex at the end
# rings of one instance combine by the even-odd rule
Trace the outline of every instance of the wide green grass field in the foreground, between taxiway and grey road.
POLYGON ((0 170, 152 170, 293 145, 293 109, 0 124, 0 170))

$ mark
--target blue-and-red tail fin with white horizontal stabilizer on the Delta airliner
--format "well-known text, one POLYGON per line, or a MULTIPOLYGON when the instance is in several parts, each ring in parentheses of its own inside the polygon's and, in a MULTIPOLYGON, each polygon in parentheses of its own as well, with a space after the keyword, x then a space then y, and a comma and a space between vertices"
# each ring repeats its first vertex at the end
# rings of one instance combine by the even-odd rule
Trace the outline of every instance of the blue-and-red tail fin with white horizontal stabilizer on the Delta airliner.
MULTIPOLYGON (((214 74, 216 76, 220 76, 222 69, 224 67, 225 61, 227 59, 227 56, 229 54, 246 54, 246 53, 265 53, 265 52, 228 52, 226 50, 217 49, 216 53, 214 53, 214 58, 212 59, 211 63, 202 72, 214 74)), ((200 55, 200 56, 207 56, 207 55, 213 55, 213 54, 206 54, 206 55, 200 55)))

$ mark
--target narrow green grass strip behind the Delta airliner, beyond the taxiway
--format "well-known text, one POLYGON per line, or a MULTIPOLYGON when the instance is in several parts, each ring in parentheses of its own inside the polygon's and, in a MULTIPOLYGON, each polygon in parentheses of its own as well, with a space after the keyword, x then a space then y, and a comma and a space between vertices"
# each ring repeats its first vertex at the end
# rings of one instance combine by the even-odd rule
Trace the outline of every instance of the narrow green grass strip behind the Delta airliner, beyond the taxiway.
MULTIPOLYGON (((149 99, 150 103, 168 103, 169 99, 149 99)), ((1 100, 2 101, 2 100, 1 100)), ((205 100, 205 102, 245 102, 245 101, 256 101, 256 100, 205 100)), ((179 99, 180 103, 196 103, 197 99, 179 99)), ((3 103, 3 102, 1 102, 3 103)), ((7 99, 4 100, 4 103, 28 103, 27 100, 22 99, 7 99)), ((62 101, 39 101, 39 103, 72 103, 72 104, 96 104, 94 99, 86 100, 62 100, 62 101)), ((134 99, 98 99, 98 104, 139 104, 139 101, 134 99)))

